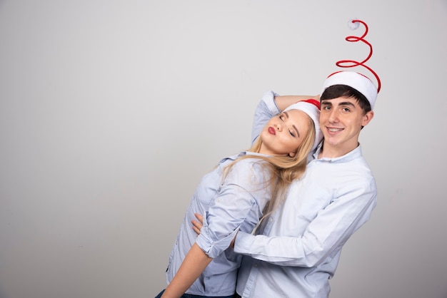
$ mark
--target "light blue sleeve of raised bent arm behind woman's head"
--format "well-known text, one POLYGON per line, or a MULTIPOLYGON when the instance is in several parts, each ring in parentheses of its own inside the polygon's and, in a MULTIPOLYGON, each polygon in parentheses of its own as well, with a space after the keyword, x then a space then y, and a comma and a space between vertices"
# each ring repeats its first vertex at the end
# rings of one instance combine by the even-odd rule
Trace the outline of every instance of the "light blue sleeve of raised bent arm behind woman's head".
POLYGON ((258 135, 261 133, 268 120, 270 120, 270 118, 272 118, 274 115, 278 115, 278 113, 281 113, 278 106, 276 106, 275 96, 278 96, 278 94, 274 93, 273 91, 264 93, 261 101, 256 107, 256 111, 253 117, 253 126, 251 130, 252 144, 255 142, 256 138, 258 138, 258 135))

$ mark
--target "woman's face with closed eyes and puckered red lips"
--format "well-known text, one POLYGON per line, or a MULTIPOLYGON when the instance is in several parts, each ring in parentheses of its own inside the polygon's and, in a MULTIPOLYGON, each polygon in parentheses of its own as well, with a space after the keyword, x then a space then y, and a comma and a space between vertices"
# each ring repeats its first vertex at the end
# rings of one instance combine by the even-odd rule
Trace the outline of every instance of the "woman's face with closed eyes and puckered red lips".
POLYGON ((310 117, 300 110, 289 110, 272 117, 261 131, 259 153, 295 155, 310 129, 310 122, 310 117))

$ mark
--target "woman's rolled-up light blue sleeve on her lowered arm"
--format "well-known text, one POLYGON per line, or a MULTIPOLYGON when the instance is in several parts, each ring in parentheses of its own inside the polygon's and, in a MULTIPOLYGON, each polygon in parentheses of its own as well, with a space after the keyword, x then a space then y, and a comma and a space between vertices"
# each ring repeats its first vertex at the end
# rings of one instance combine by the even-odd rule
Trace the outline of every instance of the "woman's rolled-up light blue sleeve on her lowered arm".
POLYGON ((215 204, 204 217, 196 243, 215 258, 226 250, 238 230, 251 231, 269 199, 261 163, 238 160, 221 185, 215 204))

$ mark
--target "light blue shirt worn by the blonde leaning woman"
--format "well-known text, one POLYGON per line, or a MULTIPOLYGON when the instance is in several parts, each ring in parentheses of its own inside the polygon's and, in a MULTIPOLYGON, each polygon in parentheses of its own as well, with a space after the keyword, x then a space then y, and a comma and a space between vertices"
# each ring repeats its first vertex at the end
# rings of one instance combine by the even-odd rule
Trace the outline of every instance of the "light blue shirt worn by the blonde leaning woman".
MULTIPOLYGON (((269 173, 263 169, 261 158, 238 160, 226 179, 224 168, 241 155, 261 156, 243 152, 221 160, 219 165, 204 175, 196 188, 181 225, 179 235, 169 257, 166 280, 171 282, 194 242, 214 260, 199 279, 186 291, 201 296, 230 296, 236 289, 237 269, 241 255, 228 248, 236 232, 251 232, 262 217, 262 210, 270 199, 265 181, 269 173), (191 220, 194 213, 206 215, 201 234, 196 235, 191 220)), ((262 155, 266 156, 266 155, 262 155)))

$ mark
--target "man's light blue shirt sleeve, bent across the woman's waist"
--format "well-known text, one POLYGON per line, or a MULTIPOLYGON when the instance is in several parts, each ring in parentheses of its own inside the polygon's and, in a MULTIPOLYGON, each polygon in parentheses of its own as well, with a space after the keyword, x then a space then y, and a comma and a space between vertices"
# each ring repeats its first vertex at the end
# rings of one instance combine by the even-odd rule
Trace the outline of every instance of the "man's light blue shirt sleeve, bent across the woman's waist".
POLYGON ((313 267, 343 246, 369 219, 375 205, 375 184, 358 187, 318 212, 303 235, 268 237, 238 232, 234 251, 281 266, 313 267))

